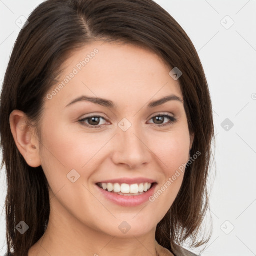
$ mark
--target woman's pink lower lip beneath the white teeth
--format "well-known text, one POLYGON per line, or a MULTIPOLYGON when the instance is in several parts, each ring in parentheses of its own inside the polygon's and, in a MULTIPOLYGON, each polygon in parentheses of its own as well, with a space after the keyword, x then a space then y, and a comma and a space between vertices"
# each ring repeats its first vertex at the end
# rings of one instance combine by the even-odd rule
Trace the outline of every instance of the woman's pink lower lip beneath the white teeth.
POLYGON ((103 188, 96 185, 100 192, 110 201, 125 207, 138 206, 146 201, 149 201, 149 197, 154 193, 156 183, 152 184, 151 188, 140 195, 120 195, 108 192, 103 188))

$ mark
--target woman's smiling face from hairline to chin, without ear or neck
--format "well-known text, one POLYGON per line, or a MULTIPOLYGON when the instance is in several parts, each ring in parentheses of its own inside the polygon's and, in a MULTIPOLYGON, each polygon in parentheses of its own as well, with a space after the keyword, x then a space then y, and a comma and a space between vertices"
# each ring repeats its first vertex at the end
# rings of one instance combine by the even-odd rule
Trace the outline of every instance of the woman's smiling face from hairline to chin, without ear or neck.
POLYGON ((127 44, 91 43, 63 68, 40 126, 51 214, 64 226, 112 236, 155 231, 180 189, 184 173, 175 173, 192 144, 178 80, 156 54, 127 44), (119 183, 134 193, 146 182, 154 184, 133 196, 98 186, 119 183))

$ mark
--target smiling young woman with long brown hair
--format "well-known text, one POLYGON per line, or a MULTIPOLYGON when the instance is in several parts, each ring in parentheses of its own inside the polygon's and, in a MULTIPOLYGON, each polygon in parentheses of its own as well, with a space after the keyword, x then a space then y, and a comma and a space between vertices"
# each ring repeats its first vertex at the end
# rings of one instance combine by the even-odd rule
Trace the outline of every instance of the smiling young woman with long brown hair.
POLYGON ((152 0, 48 0, 4 78, 7 255, 194 255, 212 108, 197 52, 152 0), (12 253, 12 254, 11 254, 12 253))

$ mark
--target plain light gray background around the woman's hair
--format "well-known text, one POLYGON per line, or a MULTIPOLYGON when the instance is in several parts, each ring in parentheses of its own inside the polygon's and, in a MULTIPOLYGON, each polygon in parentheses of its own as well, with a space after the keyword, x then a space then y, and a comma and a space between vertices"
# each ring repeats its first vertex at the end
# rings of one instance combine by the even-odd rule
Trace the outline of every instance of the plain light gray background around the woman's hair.
MULTIPOLYGON (((28 17, 41 2, 0 0, 0 84, 20 30, 15 22, 22 15, 28 17)), ((216 138, 216 166, 212 166, 209 180, 213 233, 202 255, 256 255, 256 0, 156 2, 176 19, 194 43, 212 97, 216 138)), ((0 212, 5 193, 3 170, 0 212)), ((2 213, 0 255, 5 251, 2 213)))

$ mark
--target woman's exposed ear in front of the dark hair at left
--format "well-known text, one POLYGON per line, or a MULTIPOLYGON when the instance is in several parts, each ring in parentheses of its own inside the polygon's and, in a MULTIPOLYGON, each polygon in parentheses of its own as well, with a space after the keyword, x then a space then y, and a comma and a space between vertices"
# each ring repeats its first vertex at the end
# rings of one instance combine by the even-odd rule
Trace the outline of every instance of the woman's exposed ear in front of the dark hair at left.
POLYGON ((15 144, 26 163, 31 167, 40 166, 39 141, 34 136, 34 127, 28 125, 26 114, 20 110, 13 110, 9 121, 15 144))

